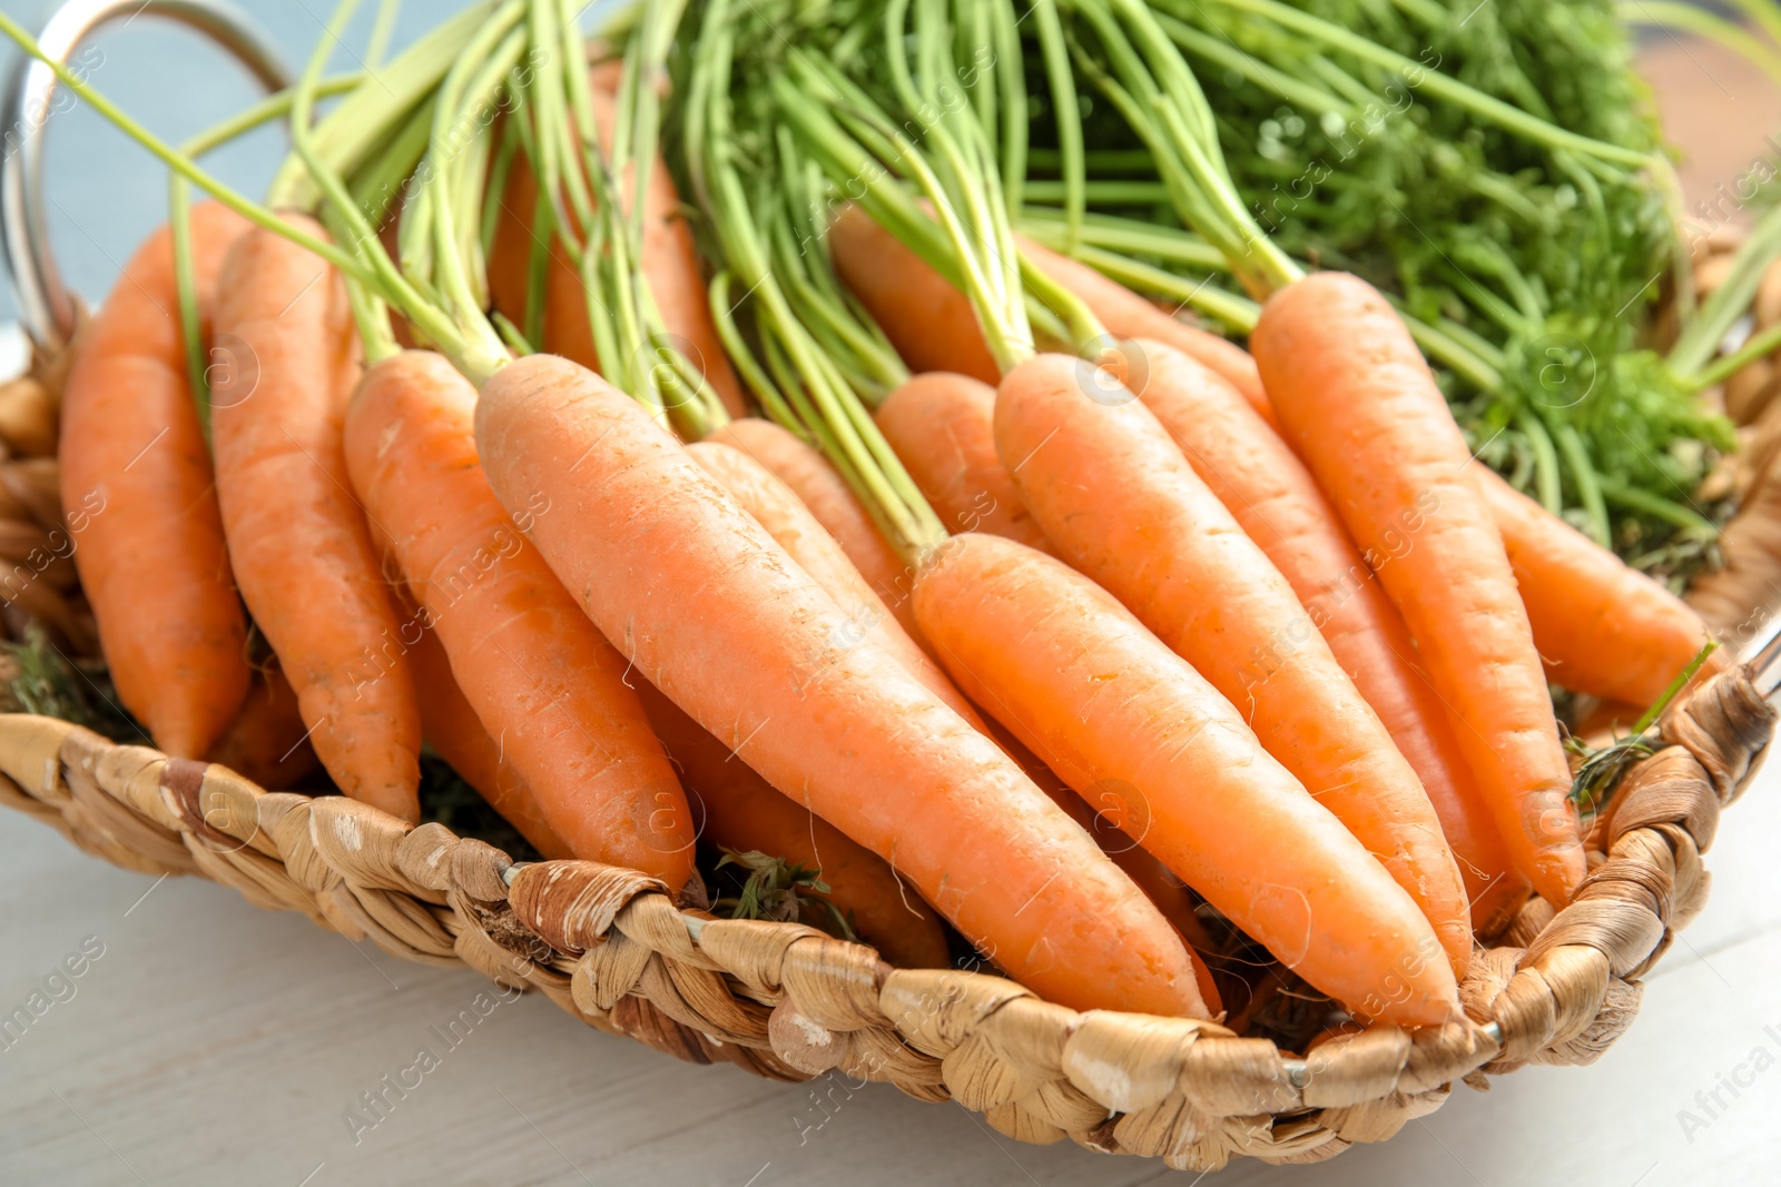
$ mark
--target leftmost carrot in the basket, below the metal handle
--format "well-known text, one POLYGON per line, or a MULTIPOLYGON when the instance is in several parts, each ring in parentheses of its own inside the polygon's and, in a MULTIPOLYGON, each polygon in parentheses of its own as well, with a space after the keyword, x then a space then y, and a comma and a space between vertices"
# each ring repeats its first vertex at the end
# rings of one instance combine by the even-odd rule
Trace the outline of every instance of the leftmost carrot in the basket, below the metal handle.
MULTIPOLYGON (((192 210, 199 308, 246 221, 192 210)), ((201 758, 248 696, 248 619, 230 578, 210 450, 180 336, 171 231, 125 265, 75 345, 62 395, 62 505, 118 696, 176 758, 201 758)))

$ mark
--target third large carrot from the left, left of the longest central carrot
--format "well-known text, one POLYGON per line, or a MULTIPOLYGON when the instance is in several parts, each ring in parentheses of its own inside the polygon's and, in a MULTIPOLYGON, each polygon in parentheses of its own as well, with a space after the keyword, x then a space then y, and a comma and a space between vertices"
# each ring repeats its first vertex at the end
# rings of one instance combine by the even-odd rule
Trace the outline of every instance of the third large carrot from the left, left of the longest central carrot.
POLYGON ((383 527, 484 730, 570 852, 663 879, 693 876, 695 828, 673 765, 595 630, 520 530, 549 500, 502 509, 477 464, 476 388, 443 356, 376 363, 353 397, 353 488, 383 527))

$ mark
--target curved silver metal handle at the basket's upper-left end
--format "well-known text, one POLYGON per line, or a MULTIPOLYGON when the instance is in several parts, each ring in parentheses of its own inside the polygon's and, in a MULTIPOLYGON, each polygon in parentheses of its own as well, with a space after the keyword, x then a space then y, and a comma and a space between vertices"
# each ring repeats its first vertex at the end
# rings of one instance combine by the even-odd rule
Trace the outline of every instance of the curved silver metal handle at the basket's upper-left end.
MULTIPOLYGON (((123 18, 159 16, 203 34, 226 50, 267 89, 290 85, 290 71, 255 21, 228 0, 68 0, 43 27, 37 43, 66 64, 98 28, 123 18)), ((43 128, 61 80, 46 64, 21 57, 5 89, 0 128, 0 242, 12 271, 20 317, 39 345, 57 347, 75 333, 75 303, 50 251, 43 206, 43 128)))

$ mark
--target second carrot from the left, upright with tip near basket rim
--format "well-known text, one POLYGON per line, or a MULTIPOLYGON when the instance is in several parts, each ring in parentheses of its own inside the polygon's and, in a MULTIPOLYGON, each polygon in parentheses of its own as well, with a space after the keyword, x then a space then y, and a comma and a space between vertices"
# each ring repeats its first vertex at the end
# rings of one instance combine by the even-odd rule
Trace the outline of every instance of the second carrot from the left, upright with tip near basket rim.
POLYGON ((237 352, 214 383, 212 440, 242 598, 328 774, 417 822, 420 710, 340 445, 360 370, 344 285, 303 247, 248 231, 223 269, 216 333, 237 352))

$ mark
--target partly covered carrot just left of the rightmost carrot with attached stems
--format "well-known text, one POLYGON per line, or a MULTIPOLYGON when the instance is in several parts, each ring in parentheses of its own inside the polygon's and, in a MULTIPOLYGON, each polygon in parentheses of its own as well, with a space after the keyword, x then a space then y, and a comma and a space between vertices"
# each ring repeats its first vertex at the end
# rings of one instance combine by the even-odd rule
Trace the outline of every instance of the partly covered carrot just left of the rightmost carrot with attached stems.
POLYGON ((1243 532, 1298 594, 1330 653, 1416 771, 1453 849, 1473 929, 1489 934, 1526 897, 1496 820, 1453 737, 1446 707, 1416 667, 1416 644, 1348 529, 1273 427, 1225 379, 1159 342, 1110 359, 1243 532))

